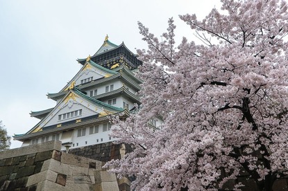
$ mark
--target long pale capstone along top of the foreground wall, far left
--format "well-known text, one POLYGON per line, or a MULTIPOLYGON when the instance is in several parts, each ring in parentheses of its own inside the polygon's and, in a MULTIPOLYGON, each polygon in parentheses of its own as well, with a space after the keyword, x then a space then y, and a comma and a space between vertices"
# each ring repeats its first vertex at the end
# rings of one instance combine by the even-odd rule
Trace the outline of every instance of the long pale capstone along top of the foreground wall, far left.
POLYGON ((6 151, 0 152, 0 160, 4 158, 12 158, 15 156, 29 155, 35 154, 38 152, 46 152, 51 150, 61 150, 61 142, 60 141, 48 141, 45 143, 28 145, 26 147, 19 147, 16 149, 8 149, 6 151))

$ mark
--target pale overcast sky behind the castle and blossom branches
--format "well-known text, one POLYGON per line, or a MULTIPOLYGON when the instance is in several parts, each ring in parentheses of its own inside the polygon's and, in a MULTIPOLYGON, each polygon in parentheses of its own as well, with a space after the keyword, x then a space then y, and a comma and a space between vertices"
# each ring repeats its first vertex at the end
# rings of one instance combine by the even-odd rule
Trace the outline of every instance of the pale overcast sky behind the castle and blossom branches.
MULTIPOLYGON (((110 42, 146 48, 139 35, 141 21, 156 36, 176 23, 176 42, 194 34, 178 15, 203 19, 215 0, 4 1, 0 0, 0 120, 10 136, 24 134, 39 122, 31 111, 56 105, 46 98, 81 69, 77 58, 94 55, 108 34, 110 42), (109 2, 109 3, 108 3, 109 2)), ((12 141, 11 148, 21 142, 12 141)))

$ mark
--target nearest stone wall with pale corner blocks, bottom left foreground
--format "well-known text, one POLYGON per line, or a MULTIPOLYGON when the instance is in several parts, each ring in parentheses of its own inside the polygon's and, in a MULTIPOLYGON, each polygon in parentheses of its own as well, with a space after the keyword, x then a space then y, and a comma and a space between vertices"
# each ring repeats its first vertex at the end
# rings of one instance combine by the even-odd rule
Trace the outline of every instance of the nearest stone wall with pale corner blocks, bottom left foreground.
POLYGON ((103 162, 60 149, 50 141, 0 152, 0 190, 119 190, 103 162))

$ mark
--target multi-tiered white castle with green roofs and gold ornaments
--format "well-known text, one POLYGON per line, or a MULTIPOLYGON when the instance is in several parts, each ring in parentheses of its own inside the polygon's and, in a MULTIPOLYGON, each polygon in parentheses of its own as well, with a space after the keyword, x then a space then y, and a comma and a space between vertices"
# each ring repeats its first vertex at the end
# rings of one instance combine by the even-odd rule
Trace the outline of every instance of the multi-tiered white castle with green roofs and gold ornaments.
POLYGON ((31 111, 40 122, 26 134, 14 136, 22 147, 49 140, 60 140, 62 150, 112 143, 108 116, 128 116, 134 104, 140 104, 136 93, 142 81, 135 71, 142 62, 124 43, 113 44, 106 36, 94 55, 78 63, 83 66, 74 78, 58 93, 48 93, 56 106, 31 111))

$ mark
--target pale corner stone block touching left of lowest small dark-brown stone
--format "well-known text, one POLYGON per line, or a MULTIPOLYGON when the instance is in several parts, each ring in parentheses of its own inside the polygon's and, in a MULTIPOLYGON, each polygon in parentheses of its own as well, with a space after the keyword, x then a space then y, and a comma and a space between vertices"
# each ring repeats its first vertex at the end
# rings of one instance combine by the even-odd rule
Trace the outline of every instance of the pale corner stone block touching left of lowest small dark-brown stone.
POLYGON ((26 186, 34 185, 36 183, 40 183, 45 180, 56 182, 56 178, 57 178, 56 172, 53 172, 52 170, 45 170, 29 176, 26 186))

